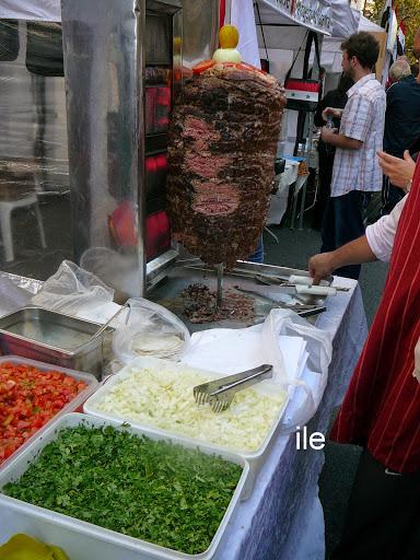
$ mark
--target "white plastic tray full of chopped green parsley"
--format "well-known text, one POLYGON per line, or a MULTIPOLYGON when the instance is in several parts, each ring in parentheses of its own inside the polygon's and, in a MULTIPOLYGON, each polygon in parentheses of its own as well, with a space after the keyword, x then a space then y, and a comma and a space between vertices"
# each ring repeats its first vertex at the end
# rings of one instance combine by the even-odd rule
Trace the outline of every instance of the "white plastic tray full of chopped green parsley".
MULTIPOLYGON (((110 529, 130 548, 140 539, 153 558, 160 548, 162 558, 170 551, 178 553, 171 558, 211 558, 248 472, 243 458, 223 455, 128 424, 67 415, 0 475, 0 502, 13 508, 19 502, 10 497, 57 512, 62 515, 55 524, 63 526, 68 517, 88 522, 98 538, 100 527, 110 529)), ((32 513, 39 515, 39 508, 32 513)))

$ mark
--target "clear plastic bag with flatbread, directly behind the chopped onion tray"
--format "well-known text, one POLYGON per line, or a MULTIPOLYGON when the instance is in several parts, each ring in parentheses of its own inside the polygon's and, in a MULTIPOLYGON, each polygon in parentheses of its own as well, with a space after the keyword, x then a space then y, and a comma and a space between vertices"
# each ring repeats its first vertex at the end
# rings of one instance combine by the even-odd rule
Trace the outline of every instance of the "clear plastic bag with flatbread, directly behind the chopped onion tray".
POLYGON ((139 355, 179 358, 189 343, 187 327, 176 315, 142 298, 128 300, 127 324, 113 336, 116 358, 128 364, 139 355))

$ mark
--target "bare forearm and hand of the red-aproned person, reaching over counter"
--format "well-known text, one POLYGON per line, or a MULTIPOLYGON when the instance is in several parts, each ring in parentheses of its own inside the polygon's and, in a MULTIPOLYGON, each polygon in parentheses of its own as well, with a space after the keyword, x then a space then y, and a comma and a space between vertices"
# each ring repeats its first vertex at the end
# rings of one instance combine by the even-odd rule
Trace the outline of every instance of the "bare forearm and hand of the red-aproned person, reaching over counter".
POLYGON ((323 278, 331 275, 337 268, 373 262, 374 260, 376 260, 376 255, 371 249, 366 236, 363 235, 336 250, 314 255, 310 258, 307 268, 314 279, 314 284, 317 285, 323 278))

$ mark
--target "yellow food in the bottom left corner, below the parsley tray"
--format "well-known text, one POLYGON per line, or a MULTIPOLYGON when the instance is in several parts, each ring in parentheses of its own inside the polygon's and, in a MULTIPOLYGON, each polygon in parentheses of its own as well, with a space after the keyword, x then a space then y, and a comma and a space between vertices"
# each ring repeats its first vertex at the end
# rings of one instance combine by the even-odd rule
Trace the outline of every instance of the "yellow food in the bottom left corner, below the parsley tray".
POLYGON ((0 547, 0 560, 70 560, 61 548, 19 533, 0 547))

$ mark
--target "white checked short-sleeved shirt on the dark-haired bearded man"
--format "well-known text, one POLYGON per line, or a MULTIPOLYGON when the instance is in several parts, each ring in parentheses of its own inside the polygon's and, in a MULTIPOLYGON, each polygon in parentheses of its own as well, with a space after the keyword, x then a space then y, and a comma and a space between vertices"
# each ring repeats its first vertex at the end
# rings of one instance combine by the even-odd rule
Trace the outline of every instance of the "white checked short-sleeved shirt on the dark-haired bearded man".
POLYGON ((382 150, 385 127, 385 90, 369 74, 347 92, 348 102, 341 117, 340 133, 363 142, 359 150, 336 149, 331 197, 351 190, 382 189, 382 171, 376 152, 382 150))

